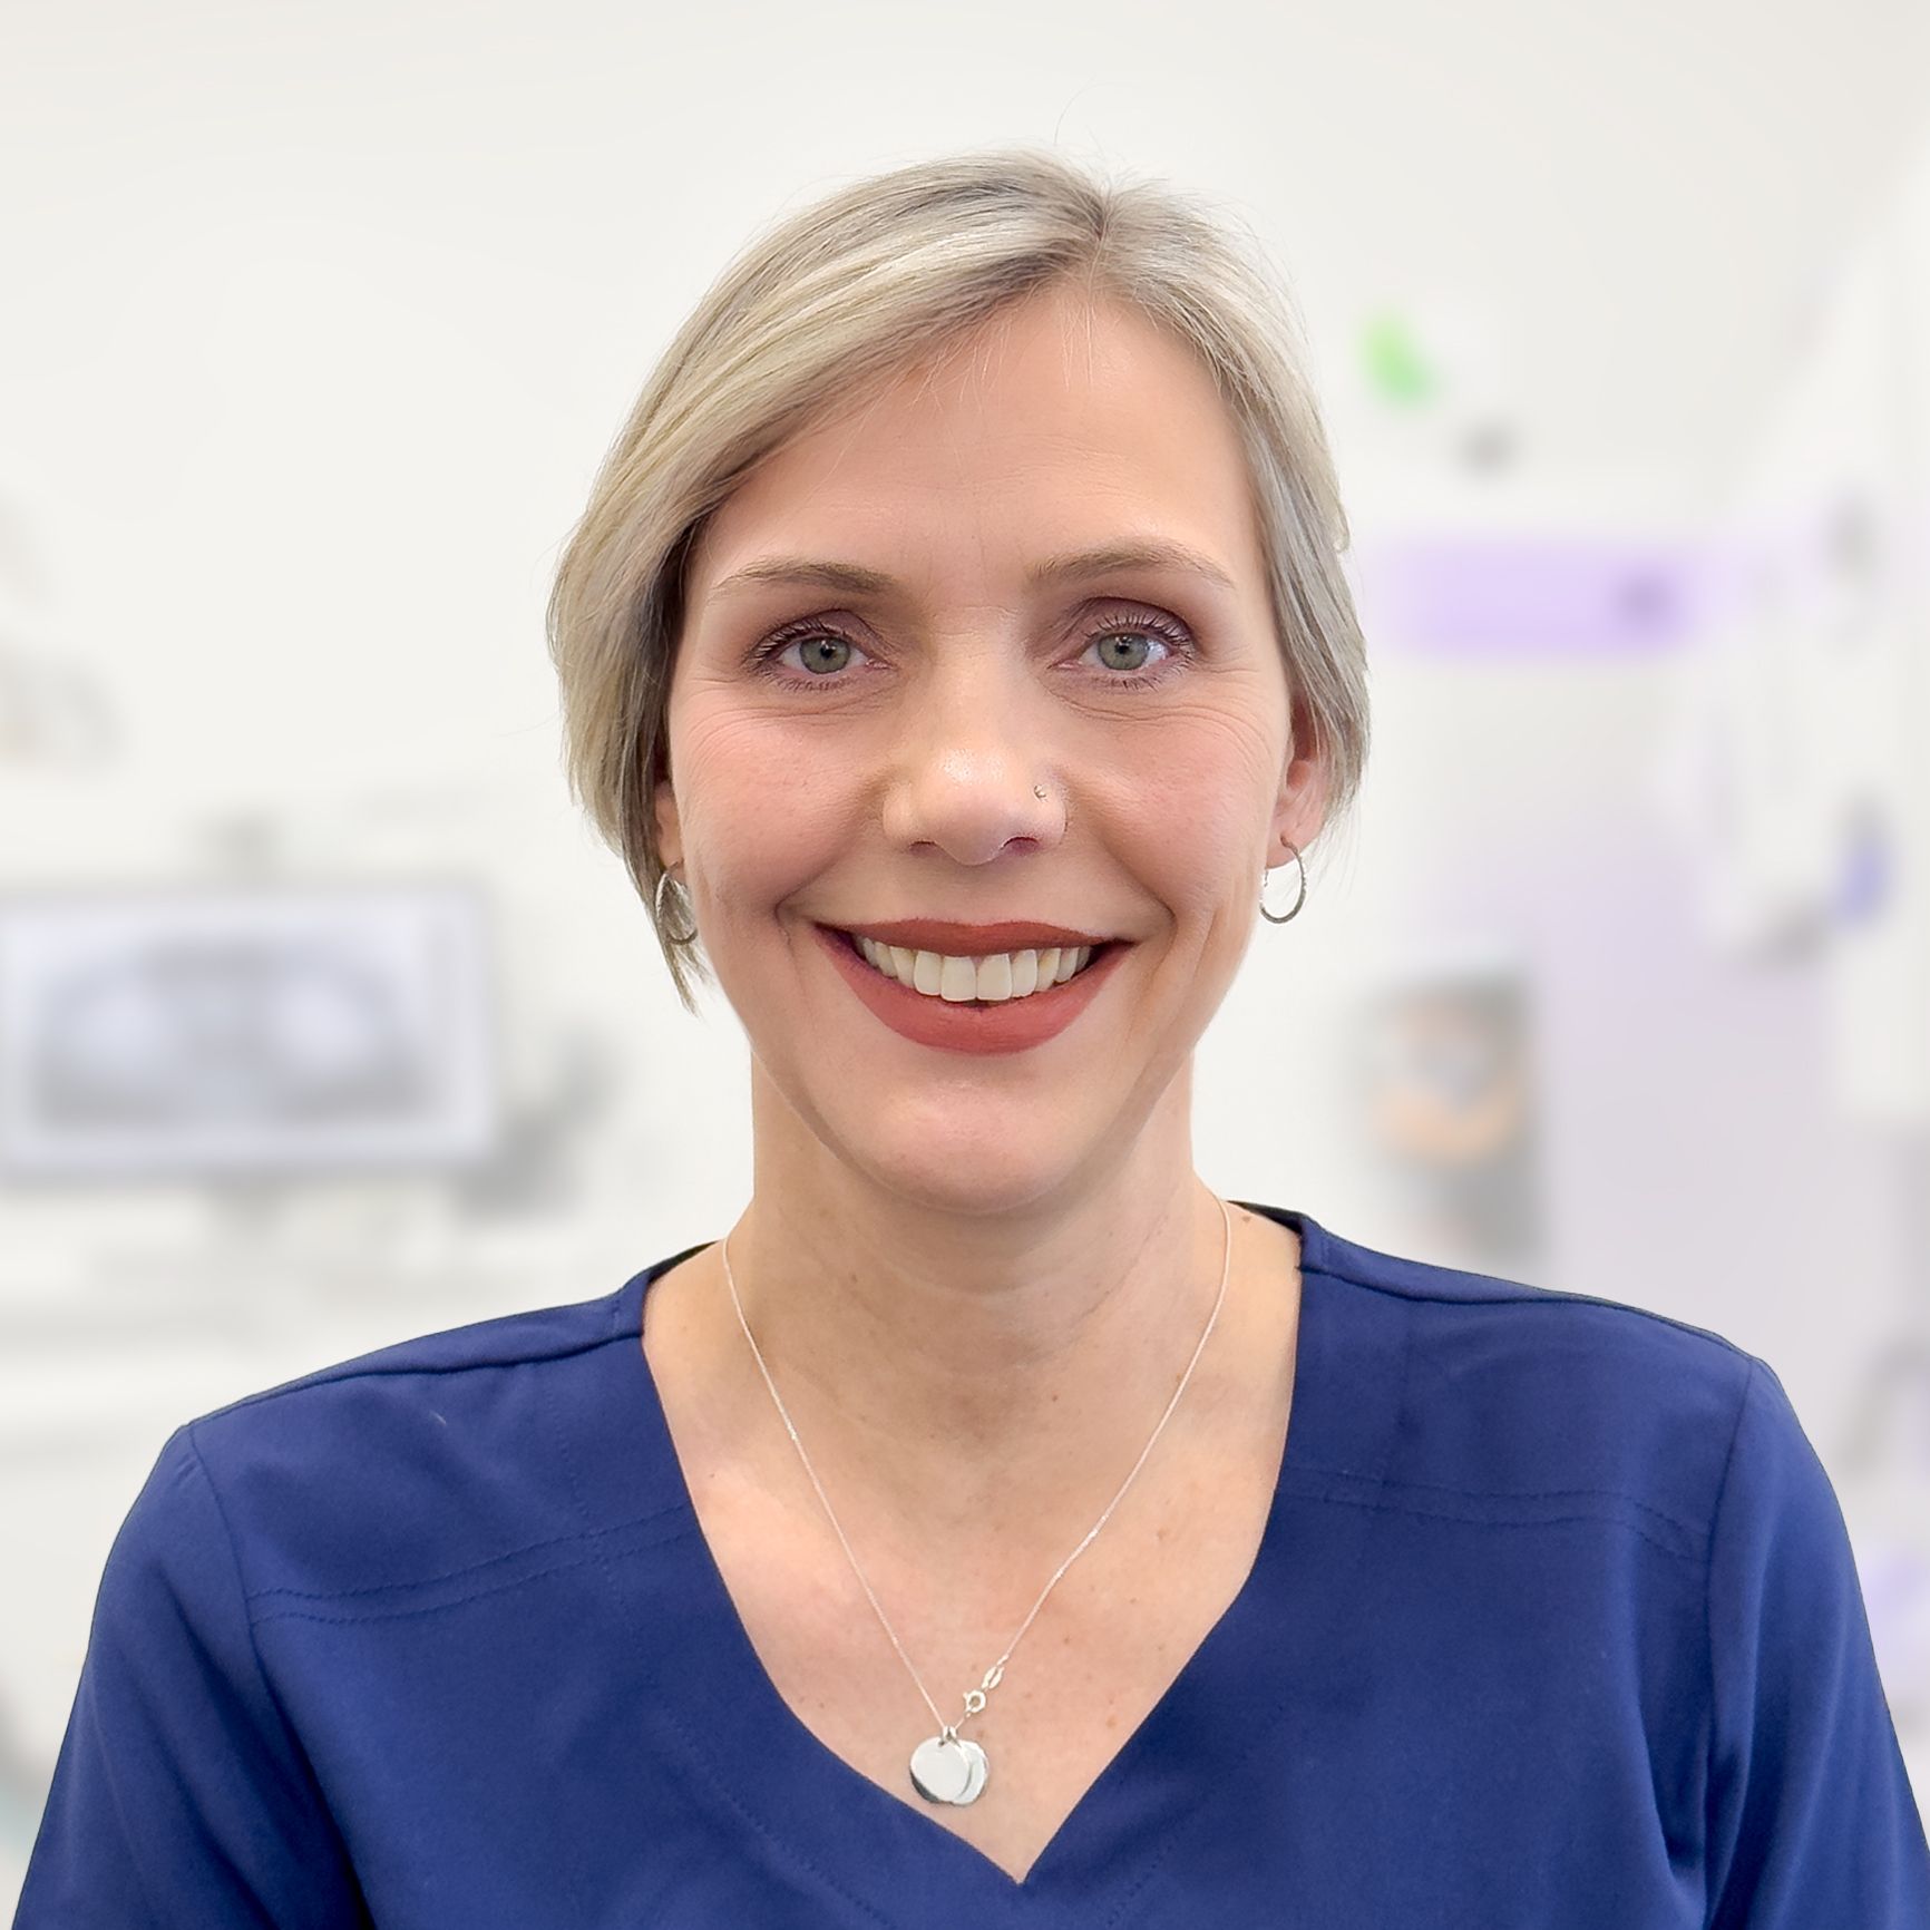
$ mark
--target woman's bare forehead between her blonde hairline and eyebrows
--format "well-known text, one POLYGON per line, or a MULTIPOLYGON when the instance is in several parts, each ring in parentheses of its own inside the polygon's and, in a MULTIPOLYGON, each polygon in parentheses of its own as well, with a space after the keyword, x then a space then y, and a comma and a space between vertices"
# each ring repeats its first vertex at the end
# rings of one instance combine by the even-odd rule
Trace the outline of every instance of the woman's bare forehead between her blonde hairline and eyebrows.
POLYGON ((687 581, 701 600, 786 554, 1017 591, 1050 556, 1148 538, 1258 579, 1237 425, 1187 345, 1054 293, 770 455, 710 517, 687 581))

